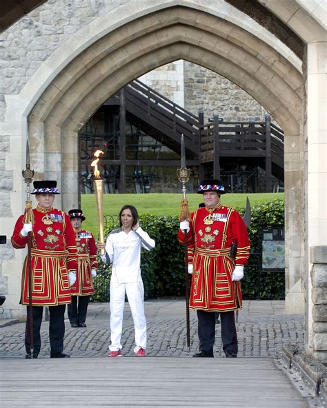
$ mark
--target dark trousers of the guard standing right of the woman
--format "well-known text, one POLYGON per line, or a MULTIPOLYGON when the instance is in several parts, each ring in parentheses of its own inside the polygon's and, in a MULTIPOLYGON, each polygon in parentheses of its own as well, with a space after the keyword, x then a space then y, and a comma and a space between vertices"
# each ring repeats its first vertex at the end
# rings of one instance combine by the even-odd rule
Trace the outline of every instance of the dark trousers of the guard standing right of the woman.
MULTIPOLYGON (((197 310, 198 319, 198 336, 199 336, 199 350, 208 353, 213 352, 213 345, 215 344, 215 312, 206 312, 204 310, 197 310)), ((223 350, 226 355, 237 354, 237 332, 235 325, 234 311, 221 312, 221 340, 223 342, 223 350)))

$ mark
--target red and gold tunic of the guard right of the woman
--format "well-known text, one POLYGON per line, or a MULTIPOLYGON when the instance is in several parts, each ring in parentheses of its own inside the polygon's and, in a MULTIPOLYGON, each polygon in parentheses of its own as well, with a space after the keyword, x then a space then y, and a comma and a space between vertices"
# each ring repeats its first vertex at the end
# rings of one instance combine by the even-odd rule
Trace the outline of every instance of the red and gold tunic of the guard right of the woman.
MULTIPOLYGON (((221 206, 199 208, 190 214, 188 263, 193 265, 190 307, 217 312, 242 306, 241 283, 232 281, 235 265, 246 265, 250 256, 248 232, 236 210, 221 206), (235 258, 230 247, 237 243, 235 258)), ((178 232, 184 244, 184 233, 178 232)))

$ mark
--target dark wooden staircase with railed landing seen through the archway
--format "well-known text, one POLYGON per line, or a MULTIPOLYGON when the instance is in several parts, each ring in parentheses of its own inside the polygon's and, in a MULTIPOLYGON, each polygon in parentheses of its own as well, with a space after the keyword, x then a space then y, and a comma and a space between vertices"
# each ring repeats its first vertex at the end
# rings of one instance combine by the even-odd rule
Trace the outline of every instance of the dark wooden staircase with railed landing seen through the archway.
MULTIPOLYGON (((184 134, 186 159, 199 165, 200 178, 208 176, 208 165, 213 167, 211 176, 220 178, 221 169, 243 161, 266 170, 266 191, 271 191, 272 175, 284 181, 284 133, 270 123, 269 115, 264 122, 220 122, 215 114, 212 121, 204 123, 203 112, 195 116, 138 80, 123 88, 123 100, 128 122, 137 123, 143 132, 178 154, 184 134)), ((106 104, 119 103, 121 93, 106 104)), ((132 161, 126 164, 132 165, 132 161)), ((149 161, 149 165, 154 163, 149 161)))

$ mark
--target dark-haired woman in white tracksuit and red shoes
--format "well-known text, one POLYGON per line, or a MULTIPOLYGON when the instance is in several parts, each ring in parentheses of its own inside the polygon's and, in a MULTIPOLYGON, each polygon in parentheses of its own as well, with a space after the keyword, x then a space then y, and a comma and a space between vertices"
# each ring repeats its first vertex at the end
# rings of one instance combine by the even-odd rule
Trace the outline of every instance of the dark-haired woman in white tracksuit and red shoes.
POLYGON ((121 329, 123 325, 123 308, 125 294, 132 312, 135 327, 135 355, 146 355, 146 316, 144 314, 144 289, 141 278, 141 248, 151 251, 155 241, 139 225, 138 214, 132 205, 124 205, 119 213, 120 228, 108 235, 106 254, 101 256, 103 262, 112 263, 110 281, 110 357, 121 356, 121 329))

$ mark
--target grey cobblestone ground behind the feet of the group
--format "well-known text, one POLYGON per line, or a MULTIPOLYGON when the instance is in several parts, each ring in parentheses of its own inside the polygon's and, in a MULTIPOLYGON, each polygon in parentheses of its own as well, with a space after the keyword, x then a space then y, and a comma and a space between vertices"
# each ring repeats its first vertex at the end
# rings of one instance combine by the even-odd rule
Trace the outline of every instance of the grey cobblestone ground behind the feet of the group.
MULTIPOLYGON (((181 301, 169 301, 169 307, 163 302, 145 303, 148 323, 148 356, 187 356, 185 304, 181 301)), ((263 304, 263 303, 262 303, 263 304)), ((251 314, 251 309, 239 312, 237 332, 239 357, 278 356, 283 344, 297 344, 304 349, 304 316, 279 314, 279 311, 265 314, 251 314)), ((91 304, 88 311, 86 328, 72 329, 66 320, 64 351, 72 357, 106 356, 110 344, 109 305, 91 304)), ((1 322, 1 320, 0 320, 1 322)), ((24 323, 0 328, 0 358, 25 355, 24 323)), ((41 327, 42 347, 40 357, 50 355, 48 322, 41 327)), ((133 356, 134 327, 129 307, 126 309, 121 336, 123 355, 133 356)), ((190 354, 197 351, 197 316, 190 312, 190 354)), ((215 356, 224 357, 220 339, 220 324, 216 325, 215 356)))

